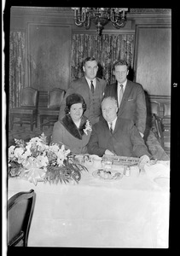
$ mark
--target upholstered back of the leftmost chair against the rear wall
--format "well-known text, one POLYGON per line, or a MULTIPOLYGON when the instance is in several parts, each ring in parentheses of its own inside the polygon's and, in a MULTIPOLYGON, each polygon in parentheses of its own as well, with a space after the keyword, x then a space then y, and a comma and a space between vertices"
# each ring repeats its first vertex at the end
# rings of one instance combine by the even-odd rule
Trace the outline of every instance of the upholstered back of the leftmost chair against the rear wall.
POLYGON ((26 87, 21 90, 21 107, 38 108, 38 90, 26 87))

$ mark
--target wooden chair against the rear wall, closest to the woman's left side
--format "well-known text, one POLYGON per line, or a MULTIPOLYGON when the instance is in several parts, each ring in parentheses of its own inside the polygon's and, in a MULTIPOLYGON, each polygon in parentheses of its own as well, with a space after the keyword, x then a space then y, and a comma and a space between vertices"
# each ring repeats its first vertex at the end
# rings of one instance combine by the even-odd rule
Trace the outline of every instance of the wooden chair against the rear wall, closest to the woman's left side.
POLYGON ((55 124, 64 96, 65 90, 60 88, 54 88, 48 91, 48 108, 38 110, 41 131, 43 131, 44 125, 50 126, 55 124))

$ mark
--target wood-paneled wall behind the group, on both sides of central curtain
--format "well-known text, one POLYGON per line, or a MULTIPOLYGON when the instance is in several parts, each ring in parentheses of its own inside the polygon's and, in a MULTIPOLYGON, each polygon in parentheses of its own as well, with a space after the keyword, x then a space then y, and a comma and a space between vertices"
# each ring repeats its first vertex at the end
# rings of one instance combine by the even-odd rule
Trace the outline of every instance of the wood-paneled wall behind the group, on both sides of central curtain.
MULTIPOLYGON (((75 26, 72 9, 40 7, 12 7, 10 30, 26 32, 26 86, 37 83, 35 88, 44 91, 67 90, 72 34, 96 33, 95 26, 75 26)), ((103 33, 134 33, 136 81, 154 98, 171 96, 170 12, 131 9, 125 27, 117 30, 107 24, 103 33)))

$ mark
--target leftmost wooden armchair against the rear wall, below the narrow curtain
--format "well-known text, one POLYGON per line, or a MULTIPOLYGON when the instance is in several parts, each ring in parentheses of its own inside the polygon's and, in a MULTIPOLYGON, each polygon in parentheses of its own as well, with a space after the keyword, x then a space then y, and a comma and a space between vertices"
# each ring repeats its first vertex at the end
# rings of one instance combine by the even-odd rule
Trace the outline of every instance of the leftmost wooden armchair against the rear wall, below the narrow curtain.
POLYGON ((38 90, 32 87, 23 88, 20 94, 20 108, 10 108, 9 112, 10 130, 13 130, 14 124, 30 124, 33 131, 33 125, 38 127, 38 90))

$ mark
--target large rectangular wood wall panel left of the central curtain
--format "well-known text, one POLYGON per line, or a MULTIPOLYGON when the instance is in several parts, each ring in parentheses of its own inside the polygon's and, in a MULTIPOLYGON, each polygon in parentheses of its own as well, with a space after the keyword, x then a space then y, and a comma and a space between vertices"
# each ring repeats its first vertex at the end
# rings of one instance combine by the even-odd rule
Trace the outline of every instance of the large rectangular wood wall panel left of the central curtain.
POLYGON ((67 89, 72 26, 28 23, 28 84, 37 90, 67 89))

